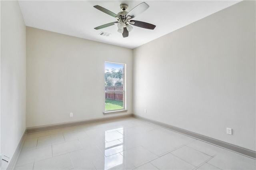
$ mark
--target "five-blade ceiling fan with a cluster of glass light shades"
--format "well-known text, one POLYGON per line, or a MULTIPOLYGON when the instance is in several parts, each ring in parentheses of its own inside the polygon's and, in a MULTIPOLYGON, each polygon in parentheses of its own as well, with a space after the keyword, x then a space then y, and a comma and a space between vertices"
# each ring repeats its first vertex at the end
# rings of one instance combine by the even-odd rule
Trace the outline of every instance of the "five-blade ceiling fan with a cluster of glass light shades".
POLYGON ((150 30, 154 30, 154 28, 156 27, 155 25, 149 24, 146 22, 131 20, 132 18, 138 16, 139 14, 141 14, 142 12, 146 11, 149 8, 149 5, 146 4, 146 2, 142 2, 141 4, 138 4, 129 12, 125 11, 128 8, 127 4, 120 4, 120 8, 122 11, 118 12, 118 14, 115 14, 114 12, 111 12, 110 10, 107 10, 98 5, 93 7, 117 19, 117 22, 110 22, 108 24, 98 26, 94 28, 95 30, 99 30, 99 29, 117 24, 118 32, 122 33, 123 37, 125 38, 125 37, 128 37, 129 32, 132 31, 133 29, 131 25, 150 29, 150 30))

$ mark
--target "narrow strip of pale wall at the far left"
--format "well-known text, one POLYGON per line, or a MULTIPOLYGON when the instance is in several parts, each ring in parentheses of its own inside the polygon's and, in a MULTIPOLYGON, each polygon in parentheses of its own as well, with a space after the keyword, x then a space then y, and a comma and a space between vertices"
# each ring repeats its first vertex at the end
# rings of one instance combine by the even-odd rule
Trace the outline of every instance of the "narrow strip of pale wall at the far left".
POLYGON ((0 3, 1 155, 12 158, 26 129, 26 26, 17 1, 0 3))

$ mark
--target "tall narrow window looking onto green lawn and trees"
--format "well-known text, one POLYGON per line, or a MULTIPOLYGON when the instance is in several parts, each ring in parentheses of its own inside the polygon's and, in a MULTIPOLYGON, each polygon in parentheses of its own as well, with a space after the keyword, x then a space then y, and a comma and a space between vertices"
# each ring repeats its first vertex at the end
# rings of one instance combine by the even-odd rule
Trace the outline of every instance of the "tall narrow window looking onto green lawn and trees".
POLYGON ((125 110, 125 64, 105 62, 105 113, 125 110))

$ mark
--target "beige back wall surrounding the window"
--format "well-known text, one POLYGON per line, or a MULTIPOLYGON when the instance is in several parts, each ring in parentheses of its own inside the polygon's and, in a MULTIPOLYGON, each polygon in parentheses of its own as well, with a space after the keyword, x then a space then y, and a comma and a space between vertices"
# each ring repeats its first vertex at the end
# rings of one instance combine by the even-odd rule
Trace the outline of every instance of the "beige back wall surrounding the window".
POLYGON ((128 113, 132 49, 27 27, 27 127, 128 113), (105 61, 127 64, 127 113, 103 115, 105 61))

